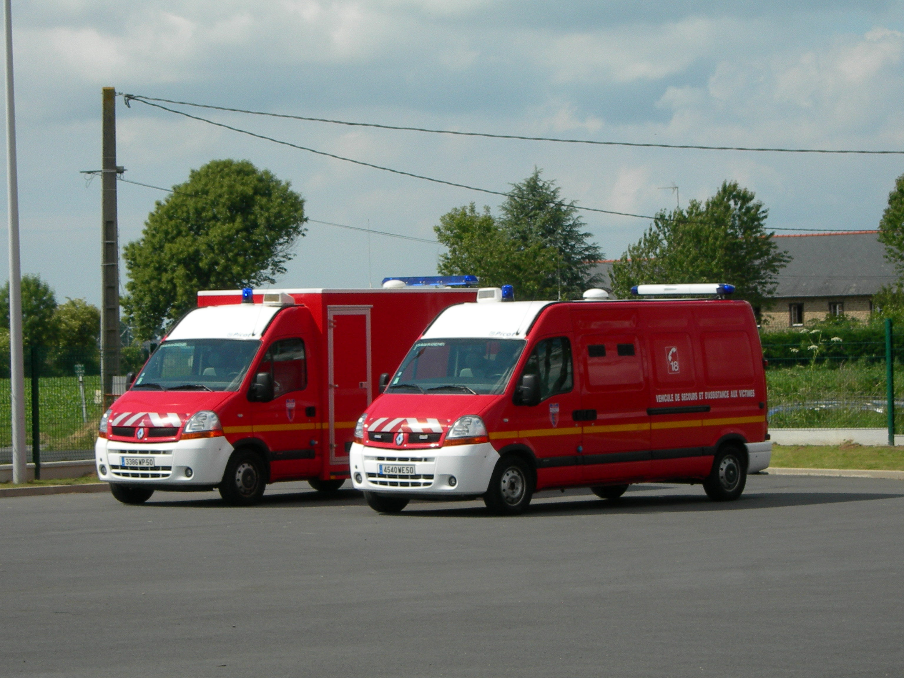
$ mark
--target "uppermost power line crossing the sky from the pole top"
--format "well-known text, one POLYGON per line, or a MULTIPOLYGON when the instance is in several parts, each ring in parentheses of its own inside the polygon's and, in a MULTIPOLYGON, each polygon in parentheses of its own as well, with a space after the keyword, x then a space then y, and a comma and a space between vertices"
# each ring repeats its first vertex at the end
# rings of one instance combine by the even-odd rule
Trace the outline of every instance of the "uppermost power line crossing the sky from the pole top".
POLYGON ((404 127, 399 125, 381 125, 372 122, 350 122, 348 120, 334 120, 331 118, 310 118, 307 116, 293 116, 287 113, 269 113, 262 110, 249 110, 246 108, 229 108, 226 106, 212 106, 210 104, 197 104, 191 101, 175 101, 174 99, 157 99, 141 94, 123 94, 126 105, 129 101, 163 101, 178 106, 193 106, 194 108, 210 108, 230 113, 247 113, 252 116, 267 116, 269 118, 288 118, 292 120, 305 120, 307 122, 324 122, 331 125, 344 125, 346 127, 375 127, 377 129, 392 129, 407 132, 426 132, 428 134, 448 134, 457 137, 485 137, 491 139, 517 139, 520 141, 550 141, 557 144, 587 144, 590 146, 631 146, 635 148, 677 148, 692 149, 698 151, 748 151, 753 153, 822 153, 822 154, 847 154, 847 155, 904 155, 904 151, 868 151, 861 149, 839 148, 781 148, 770 146, 702 146, 696 144, 645 144, 631 141, 595 141, 593 139, 562 139, 559 137, 527 137, 515 134, 491 134, 488 132, 462 132, 455 129, 432 129, 430 127, 404 127))

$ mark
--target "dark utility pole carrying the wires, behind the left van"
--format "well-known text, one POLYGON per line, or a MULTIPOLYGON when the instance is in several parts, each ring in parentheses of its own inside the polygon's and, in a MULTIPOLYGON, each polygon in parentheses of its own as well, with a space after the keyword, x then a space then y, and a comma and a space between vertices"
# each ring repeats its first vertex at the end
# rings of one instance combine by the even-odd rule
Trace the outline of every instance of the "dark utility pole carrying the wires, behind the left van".
MULTIPOLYGON (((6 0, 9 2, 9 0, 6 0)), ((103 149, 100 181, 100 388, 104 409, 113 401, 113 375, 119 373, 119 227, 116 182, 116 89, 103 89, 103 149)))

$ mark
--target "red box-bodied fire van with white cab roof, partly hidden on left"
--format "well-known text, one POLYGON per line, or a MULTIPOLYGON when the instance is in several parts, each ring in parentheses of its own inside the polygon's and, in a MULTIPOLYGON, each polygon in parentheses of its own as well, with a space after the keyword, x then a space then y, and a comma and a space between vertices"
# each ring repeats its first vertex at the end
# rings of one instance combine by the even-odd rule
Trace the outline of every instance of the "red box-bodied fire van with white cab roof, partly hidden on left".
POLYGON ((126 504, 155 489, 216 487, 231 504, 253 504, 278 481, 338 488, 374 375, 394 370, 440 311, 476 298, 432 286, 475 283, 199 292, 100 420, 99 478, 126 504))

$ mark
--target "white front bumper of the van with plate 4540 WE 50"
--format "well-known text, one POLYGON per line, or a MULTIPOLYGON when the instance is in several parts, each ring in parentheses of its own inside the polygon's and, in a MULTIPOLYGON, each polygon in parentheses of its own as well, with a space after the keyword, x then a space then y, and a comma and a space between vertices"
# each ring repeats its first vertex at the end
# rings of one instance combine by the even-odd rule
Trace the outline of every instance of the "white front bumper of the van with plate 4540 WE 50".
POLYGON ((353 443, 349 452, 354 488, 387 494, 484 494, 498 460, 499 453, 489 443, 432 449, 365 447, 353 443), (414 466, 414 473, 381 473, 381 466, 385 465, 414 466), (453 476, 454 485, 450 484, 453 476))

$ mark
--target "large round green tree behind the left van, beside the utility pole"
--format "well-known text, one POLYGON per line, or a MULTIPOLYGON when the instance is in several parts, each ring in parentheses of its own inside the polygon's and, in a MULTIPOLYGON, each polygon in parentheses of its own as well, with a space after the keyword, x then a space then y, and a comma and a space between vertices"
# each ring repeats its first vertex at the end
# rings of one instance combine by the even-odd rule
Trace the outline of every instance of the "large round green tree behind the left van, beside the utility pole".
POLYGON ((247 160, 212 160, 157 202, 123 250, 122 305, 152 339, 196 304, 198 290, 272 284, 304 236, 305 200, 247 160))

